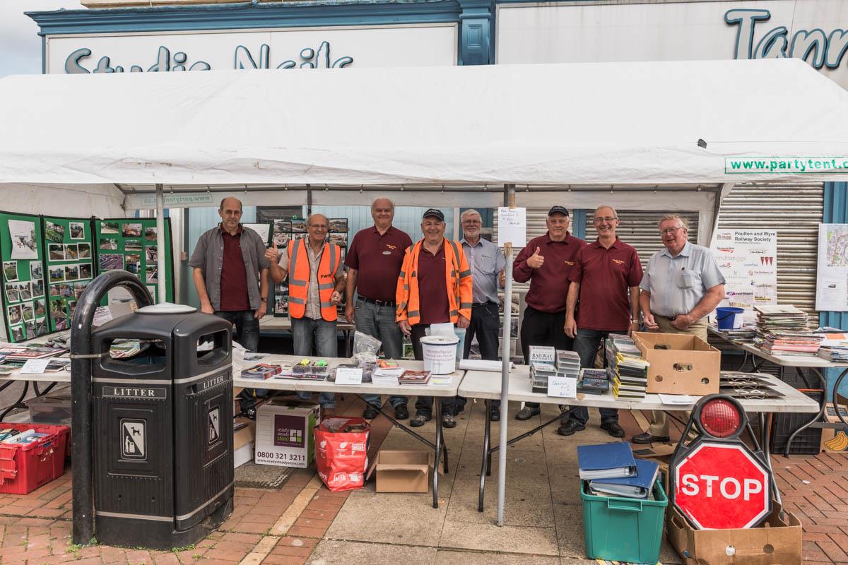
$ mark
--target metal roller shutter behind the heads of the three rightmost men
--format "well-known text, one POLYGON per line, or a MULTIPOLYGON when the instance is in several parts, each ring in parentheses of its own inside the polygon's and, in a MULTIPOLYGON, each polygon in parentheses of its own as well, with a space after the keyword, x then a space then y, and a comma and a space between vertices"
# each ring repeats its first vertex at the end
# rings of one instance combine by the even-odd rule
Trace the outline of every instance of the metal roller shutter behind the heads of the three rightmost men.
MULTIPOLYGON (((618 237, 639 252, 642 269, 648 266, 648 259, 660 251, 662 241, 658 223, 667 213, 676 213, 689 224, 689 241, 698 241, 697 212, 662 212, 645 210, 618 210, 618 237)), ((586 211, 586 241, 594 241, 598 232, 594 229, 594 210, 586 211)))

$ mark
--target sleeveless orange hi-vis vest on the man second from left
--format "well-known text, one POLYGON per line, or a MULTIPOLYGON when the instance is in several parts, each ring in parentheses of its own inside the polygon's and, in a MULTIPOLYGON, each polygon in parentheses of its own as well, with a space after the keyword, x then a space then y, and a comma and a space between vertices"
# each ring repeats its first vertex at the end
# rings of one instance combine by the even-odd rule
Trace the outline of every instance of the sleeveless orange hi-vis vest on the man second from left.
MULTIPOLYGON (((310 256, 306 251, 307 245, 309 243, 305 239, 298 238, 288 246, 288 315, 291 318, 303 318, 306 313, 306 300, 310 292, 310 256)), ((341 257, 338 245, 324 243, 321 262, 318 263, 318 295, 321 296, 321 318, 327 322, 338 318, 336 307, 331 301, 341 257)))

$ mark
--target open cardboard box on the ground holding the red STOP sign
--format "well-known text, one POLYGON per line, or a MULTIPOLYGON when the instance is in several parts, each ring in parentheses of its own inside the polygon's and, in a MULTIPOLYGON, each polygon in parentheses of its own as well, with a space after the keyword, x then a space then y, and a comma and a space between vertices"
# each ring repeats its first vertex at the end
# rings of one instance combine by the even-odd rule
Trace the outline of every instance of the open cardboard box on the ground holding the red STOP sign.
POLYGON ((686 565, 789 565, 801 562, 801 522, 773 501, 772 513, 750 529, 693 529, 671 504, 668 541, 686 565))

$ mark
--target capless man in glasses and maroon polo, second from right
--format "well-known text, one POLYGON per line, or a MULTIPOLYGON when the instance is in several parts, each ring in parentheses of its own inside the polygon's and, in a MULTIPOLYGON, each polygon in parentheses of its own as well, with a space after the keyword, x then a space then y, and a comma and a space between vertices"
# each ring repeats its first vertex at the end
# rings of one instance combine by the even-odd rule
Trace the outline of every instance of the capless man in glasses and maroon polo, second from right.
MULTIPOLYGON (((618 214, 611 206, 594 211, 598 239, 577 253, 568 275, 572 284, 566 303, 566 334, 574 338, 580 366, 594 367, 600 341, 610 334, 628 334, 639 328, 639 253, 616 236, 618 214), (579 308, 577 303, 579 302, 579 308), (575 318, 575 310, 577 317, 575 318)), ((589 408, 572 407, 562 416, 556 433, 572 435, 586 428, 589 408)), ((600 427, 612 437, 624 437, 616 408, 600 408, 600 427)))

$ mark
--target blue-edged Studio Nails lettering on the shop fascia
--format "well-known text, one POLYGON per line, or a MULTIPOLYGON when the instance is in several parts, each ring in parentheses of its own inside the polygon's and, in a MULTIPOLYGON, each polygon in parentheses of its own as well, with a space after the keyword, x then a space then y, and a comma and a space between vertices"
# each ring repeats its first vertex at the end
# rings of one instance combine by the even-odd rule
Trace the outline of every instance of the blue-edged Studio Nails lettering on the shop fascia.
MULTIPOLYGON (((64 61, 64 72, 69 75, 86 75, 89 73, 123 73, 124 67, 121 65, 112 65, 112 60, 108 55, 104 55, 98 60, 98 64, 94 69, 88 69, 83 66, 83 59, 92 56, 92 50, 88 47, 76 49, 68 55, 64 61)), ((233 69, 268 69, 271 61, 271 47, 263 43, 259 47, 259 57, 254 58, 254 53, 243 45, 239 45, 235 49, 233 56, 233 69)), ((288 59, 276 66, 276 69, 340 69, 354 62, 353 57, 340 57, 332 59, 330 56, 330 42, 321 42, 317 49, 312 47, 304 47, 300 50, 298 60, 288 59)), ((165 46, 159 47, 159 53, 156 54, 155 62, 148 67, 147 72, 167 72, 167 71, 184 71, 184 70, 209 70, 212 65, 205 61, 195 61, 189 63, 187 53, 177 51, 173 55, 170 49, 165 46)), ((141 73, 144 71, 142 65, 131 65, 129 72, 141 73)))

